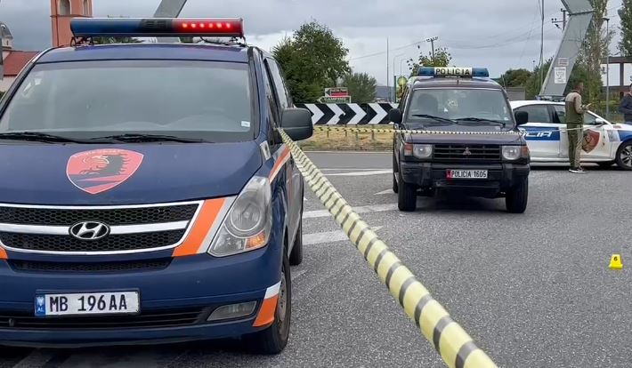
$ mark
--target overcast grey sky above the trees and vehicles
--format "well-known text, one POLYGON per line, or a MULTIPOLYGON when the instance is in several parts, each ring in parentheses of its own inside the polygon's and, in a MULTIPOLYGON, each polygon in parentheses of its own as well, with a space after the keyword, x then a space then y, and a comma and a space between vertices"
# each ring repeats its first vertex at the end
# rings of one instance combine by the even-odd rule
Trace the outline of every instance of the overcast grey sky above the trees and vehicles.
MULTIPOLYGON (((545 56, 555 53, 562 31, 551 18, 562 18, 559 0, 546 0, 545 56)), ((93 0, 94 15, 151 16, 159 0, 93 0)), ((619 27, 620 0, 610 0, 611 26, 619 27)), ((0 20, 12 30, 20 50, 51 44, 50 0, 1 0, 0 20)), ((332 28, 349 48, 352 68, 385 84, 386 64, 399 74, 400 60, 430 51, 425 39, 438 36, 458 66, 532 68, 539 60, 539 0, 189 0, 182 16, 242 17, 247 41, 270 50, 307 20, 332 28), (391 53, 386 59, 386 38, 391 53), (417 49, 417 46, 420 47, 417 49)), ((615 50, 614 45, 612 50, 615 50)))

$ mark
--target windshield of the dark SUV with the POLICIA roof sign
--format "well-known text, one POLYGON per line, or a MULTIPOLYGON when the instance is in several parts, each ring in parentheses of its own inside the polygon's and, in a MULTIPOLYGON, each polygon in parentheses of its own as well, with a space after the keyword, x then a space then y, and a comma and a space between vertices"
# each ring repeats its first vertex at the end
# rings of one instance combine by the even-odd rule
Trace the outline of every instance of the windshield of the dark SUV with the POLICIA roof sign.
POLYGON ((407 123, 513 126, 505 94, 484 89, 420 89, 409 102, 407 123))

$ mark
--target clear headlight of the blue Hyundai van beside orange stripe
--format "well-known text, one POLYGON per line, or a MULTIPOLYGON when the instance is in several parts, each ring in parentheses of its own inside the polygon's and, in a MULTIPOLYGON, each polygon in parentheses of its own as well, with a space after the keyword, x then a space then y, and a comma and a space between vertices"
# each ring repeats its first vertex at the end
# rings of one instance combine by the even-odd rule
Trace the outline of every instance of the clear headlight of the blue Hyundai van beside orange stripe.
POLYGON ((272 226, 270 180, 253 177, 226 214, 209 253, 215 257, 254 251, 268 244, 272 226))

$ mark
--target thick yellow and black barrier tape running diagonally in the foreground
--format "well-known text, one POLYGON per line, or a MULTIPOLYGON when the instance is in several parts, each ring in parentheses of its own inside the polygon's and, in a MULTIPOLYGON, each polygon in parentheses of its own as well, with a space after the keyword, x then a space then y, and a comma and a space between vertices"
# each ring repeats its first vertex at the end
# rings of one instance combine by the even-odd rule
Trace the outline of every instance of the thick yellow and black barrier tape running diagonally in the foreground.
POLYGON ((292 152, 305 182, 334 216, 336 223, 343 228, 344 233, 362 253, 371 268, 376 271, 393 298, 399 301, 425 338, 433 343, 443 361, 450 368, 496 367, 490 357, 476 347, 467 332, 450 318, 442 305, 433 300, 430 292, 409 268, 401 263, 360 215, 353 211, 352 206, 344 200, 301 148, 298 148, 282 130, 280 135, 292 152))

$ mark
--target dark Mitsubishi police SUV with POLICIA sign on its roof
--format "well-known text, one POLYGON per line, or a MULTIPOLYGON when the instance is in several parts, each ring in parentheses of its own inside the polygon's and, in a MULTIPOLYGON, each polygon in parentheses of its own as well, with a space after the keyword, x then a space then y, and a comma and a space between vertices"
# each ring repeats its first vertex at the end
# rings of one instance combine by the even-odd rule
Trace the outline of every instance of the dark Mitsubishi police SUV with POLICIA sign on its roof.
POLYGON ((389 118, 393 140, 393 190, 401 211, 417 208, 417 196, 437 190, 505 197, 508 212, 522 213, 529 192, 529 148, 506 92, 485 68, 419 68, 399 108, 389 118))

